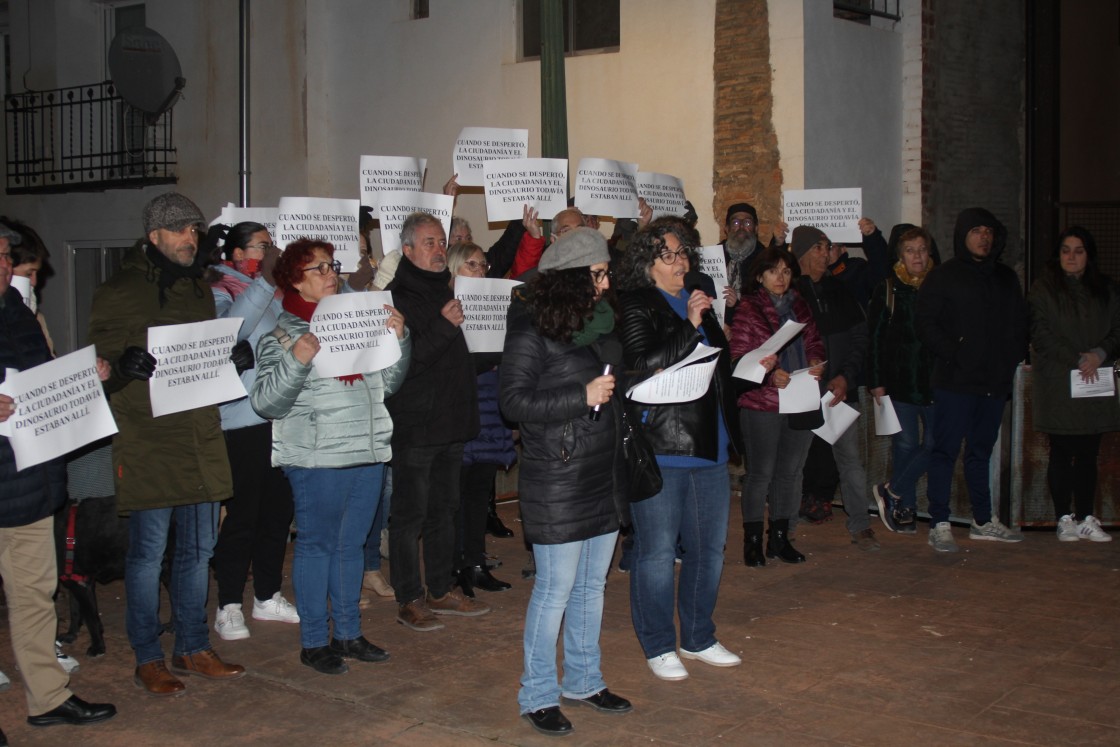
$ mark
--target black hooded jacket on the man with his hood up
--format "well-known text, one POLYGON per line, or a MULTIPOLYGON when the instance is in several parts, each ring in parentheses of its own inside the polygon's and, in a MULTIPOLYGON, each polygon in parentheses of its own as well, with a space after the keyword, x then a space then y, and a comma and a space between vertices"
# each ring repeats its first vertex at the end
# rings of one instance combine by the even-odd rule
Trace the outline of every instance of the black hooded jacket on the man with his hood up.
POLYGON ((982 207, 962 211, 953 258, 930 271, 917 295, 917 332, 935 356, 933 387, 1006 398, 1027 352, 1027 302, 1015 271, 999 261, 1007 228, 982 207), (991 251, 973 256, 964 239, 992 230, 991 251))

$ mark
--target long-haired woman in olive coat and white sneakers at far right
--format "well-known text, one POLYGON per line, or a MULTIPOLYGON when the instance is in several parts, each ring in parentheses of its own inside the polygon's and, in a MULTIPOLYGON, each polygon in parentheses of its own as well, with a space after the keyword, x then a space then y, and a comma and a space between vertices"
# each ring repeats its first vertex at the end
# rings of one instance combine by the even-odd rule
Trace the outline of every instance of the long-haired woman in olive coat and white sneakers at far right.
POLYGON ((1096 265, 1091 233, 1071 226, 1058 236, 1028 300, 1034 426, 1049 435, 1046 480, 1057 539, 1109 542, 1112 536, 1093 516, 1096 456, 1101 435, 1120 430, 1120 407, 1114 393, 1075 398, 1072 392, 1075 384, 1111 376, 1120 354, 1120 296, 1096 265))

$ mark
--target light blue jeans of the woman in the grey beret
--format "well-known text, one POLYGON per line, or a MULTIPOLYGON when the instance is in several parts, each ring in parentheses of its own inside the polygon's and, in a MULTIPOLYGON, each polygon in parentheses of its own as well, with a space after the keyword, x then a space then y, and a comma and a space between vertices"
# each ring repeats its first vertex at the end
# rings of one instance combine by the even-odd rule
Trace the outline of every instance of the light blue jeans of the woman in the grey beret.
POLYGON ((563 544, 534 544, 536 579, 525 611, 522 713, 587 698, 606 688, 599 670, 603 590, 618 532, 563 544), (563 622, 563 682, 557 680, 557 641, 563 622))

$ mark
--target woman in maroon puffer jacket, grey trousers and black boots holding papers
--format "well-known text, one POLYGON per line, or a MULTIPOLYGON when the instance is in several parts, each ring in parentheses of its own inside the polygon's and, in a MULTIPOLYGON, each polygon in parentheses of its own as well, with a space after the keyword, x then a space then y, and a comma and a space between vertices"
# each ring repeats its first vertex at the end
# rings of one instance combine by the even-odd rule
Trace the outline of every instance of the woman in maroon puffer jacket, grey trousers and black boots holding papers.
POLYGON ((813 314, 792 288, 796 268, 793 254, 764 249, 752 263, 731 326, 731 360, 757 349, 786 320, 805 325, 776 356, 762 364, 768 370, 760 386, 739 395, 744 440, 747 442, 747 478, 743 486, 743 560, 752 568, 766 558, 787 563, 804 562, 790 536, 790 520, 801 506, 801 471, 805 466, 811 430, 790 427, 790 415, 778 412, 778 390, 790 383, 790 373, 814 366, 820 377, 824 345, 813 314), (769 541, 763 554, 763 519, 769 498, 769 541))

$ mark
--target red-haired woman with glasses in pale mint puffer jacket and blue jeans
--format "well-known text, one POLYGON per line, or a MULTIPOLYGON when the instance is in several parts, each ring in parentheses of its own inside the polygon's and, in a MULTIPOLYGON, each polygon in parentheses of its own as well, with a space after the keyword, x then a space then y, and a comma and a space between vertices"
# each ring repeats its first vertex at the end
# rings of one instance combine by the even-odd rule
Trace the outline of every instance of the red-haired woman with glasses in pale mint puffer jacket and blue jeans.
POLYGON ((283 467, 295 497, 299 659, 324 674, 346 672, 343 659, 389 659, 362 636, 362 548, 373 524, 384 463, 392 456, 393 423, 384 400, 404 380, 411 357, 404 318, 386 306, 386 327, 401 346, 396 363, 338 377, 311 372, 319 352, 319 340, 309 332, 311 315, 321 299, 338 291, 334 251, 327 242, 301 239, 280 255, 273 278, 283 291, 283 312, 276 330, 256 345, 256 380, 250 392, 253 409, 273 421, 272 464, 283 467))

